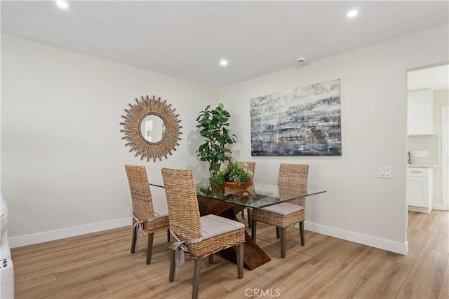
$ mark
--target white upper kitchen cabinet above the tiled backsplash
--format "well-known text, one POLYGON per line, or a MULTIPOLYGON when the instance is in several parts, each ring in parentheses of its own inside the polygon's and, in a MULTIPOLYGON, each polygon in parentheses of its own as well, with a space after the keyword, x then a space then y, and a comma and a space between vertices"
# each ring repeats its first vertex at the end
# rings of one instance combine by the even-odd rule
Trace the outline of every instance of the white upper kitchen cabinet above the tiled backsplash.
POLYGON ((434 97, 430 89, 408 92, 407 134, 434 134, 434 97))

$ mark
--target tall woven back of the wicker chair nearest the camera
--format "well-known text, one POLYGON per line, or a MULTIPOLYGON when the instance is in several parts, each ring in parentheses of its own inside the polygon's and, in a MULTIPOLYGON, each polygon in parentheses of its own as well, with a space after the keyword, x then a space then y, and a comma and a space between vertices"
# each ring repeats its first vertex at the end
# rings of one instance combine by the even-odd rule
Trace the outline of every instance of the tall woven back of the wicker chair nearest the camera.
POLYGON ((192 171, 163 168, 161 172, 170 230, 181 240, 200 239, 201 223, 192 171))

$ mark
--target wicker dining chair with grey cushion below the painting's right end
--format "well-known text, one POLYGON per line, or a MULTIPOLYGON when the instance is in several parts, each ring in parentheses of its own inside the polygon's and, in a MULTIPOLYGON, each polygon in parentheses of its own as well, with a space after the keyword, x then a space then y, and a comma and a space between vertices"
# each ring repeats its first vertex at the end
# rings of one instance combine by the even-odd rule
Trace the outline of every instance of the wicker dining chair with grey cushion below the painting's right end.
MULTIPOLYGON (((288 187, 307 188, 307 178, 309 175, 309 165, 306 164, 286 164, 279 165, 278 186, 287 187, 283 194, 280 188, 281 199, 289 197, 288 187)), ((274 204, 270 207, 251 210, 251 237, 255 240, 257 221, 276 226, 276 234, 281 237, 281 258, 286 257, 286 228, 295 223, 300 224, 301 245, 304 246, 304 209, 306 200, 301 197, 290 202, 274 204)))

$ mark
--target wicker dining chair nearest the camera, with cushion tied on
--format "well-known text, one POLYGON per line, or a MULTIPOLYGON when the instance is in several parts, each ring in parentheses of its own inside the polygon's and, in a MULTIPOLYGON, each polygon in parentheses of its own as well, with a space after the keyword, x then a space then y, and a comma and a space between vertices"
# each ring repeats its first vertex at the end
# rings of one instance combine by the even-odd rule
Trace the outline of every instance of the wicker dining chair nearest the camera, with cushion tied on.
POLYGON ((175 266, 180 267, 173 246, 187 247, 185 251, 194 258, 192 298, 198 297, 201 258, 209 256, 209 263, 213 263, 213 253, 222 249, 236 246, 237 277, 243 278, 245 225, 216 215, 200 217, 192 171, 163 168, 161 172, 170 219, 170 248, 173 249, 168 280, 175 280, 175 266))

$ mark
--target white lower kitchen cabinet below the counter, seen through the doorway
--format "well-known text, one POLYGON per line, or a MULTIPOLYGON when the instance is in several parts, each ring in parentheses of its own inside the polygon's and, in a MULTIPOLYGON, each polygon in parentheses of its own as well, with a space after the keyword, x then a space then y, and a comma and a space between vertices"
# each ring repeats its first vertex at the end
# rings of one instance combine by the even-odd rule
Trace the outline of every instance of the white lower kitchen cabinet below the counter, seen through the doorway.
POLYGON ((434 169, 408 167, 407 196, 408 210, 422 213, 432 211, 434 169))

